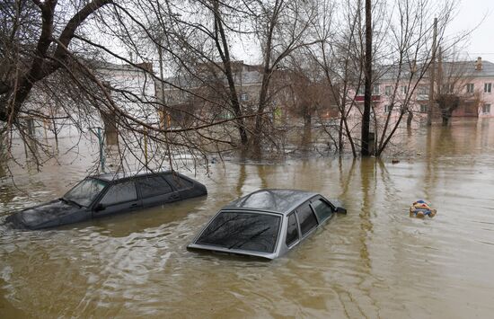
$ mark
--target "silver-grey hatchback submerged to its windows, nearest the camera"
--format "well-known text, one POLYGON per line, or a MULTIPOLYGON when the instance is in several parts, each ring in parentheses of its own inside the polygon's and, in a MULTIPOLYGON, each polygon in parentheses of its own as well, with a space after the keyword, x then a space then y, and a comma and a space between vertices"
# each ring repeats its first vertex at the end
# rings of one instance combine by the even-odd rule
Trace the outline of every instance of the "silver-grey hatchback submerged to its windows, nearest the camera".
POLYGON ((254 191, 221 208, 188 248, 275 259, 335 213, 346 214, 347 210, 318 193, 254 191))

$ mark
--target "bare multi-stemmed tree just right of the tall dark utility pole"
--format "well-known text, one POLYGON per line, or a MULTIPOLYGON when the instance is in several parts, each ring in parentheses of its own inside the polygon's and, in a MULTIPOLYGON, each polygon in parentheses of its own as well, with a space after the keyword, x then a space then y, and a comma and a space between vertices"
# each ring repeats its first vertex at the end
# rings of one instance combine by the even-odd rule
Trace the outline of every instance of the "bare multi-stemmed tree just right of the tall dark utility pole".
POLYGON ((433 21, 437 15, 437 44, 445 41, 445 28, 454 13, 454 3, 445 1, 437 4, 432 1, 401 0, 388 13, 388 31, 393 36, 386 42, 384 57, 393 63, 381 66, 381 74, 375 81, 392 81, 392 92, 386 97, 388 110, 384 121, 376 118, 375 155, 381 155, 400 127, 401 120, 411 111, 415 102, 415 92, 427 76, 431 64, 433 21), (396 111, 396 113, 393 112, 396 111), (397 114, 394 116, 394 114, 397 114))

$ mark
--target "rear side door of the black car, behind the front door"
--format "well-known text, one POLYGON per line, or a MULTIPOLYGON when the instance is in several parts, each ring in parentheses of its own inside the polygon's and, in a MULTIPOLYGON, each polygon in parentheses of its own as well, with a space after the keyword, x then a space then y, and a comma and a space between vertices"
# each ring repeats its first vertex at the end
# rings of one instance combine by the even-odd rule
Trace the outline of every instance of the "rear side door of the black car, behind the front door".
POLYGON ((153 207, 180 199, 179 192, 166 182, 163 175, 146 176, 137 181, 143 207, 153 207))

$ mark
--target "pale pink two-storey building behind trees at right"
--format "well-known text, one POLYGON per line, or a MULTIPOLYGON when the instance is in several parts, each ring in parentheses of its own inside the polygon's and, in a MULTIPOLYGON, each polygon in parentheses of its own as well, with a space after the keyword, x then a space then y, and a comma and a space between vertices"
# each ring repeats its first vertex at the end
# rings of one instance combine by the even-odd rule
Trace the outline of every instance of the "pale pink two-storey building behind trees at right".
MULTIPOLYGON (((415 119, 425 119, 428 113, 429 77, 425 73, 419 82, 410 80, 410 71, 402 71, 401 80, 395 90, 396 72, 393 68, 382 75, 376 75, 372 100, 375 102, 375 114, 378 118, 386 118, 392 111, 396 119, 401 111, 401 105, 408 105, 415 119), (391 104, 394 96, 393 110, 391 104)), ((437 82, 435 94, 451 94, 458 96, 459 105, 453 111, 452 117, 494 117, 494 64, 489 61, 458 61, 444 62, 437 65, 437 82)), ((363 89, 357 93, 355 101, 363 104, 363 89)), ((434 119, 441 118, 441 111, 436 105, 433 109, 434 119)))

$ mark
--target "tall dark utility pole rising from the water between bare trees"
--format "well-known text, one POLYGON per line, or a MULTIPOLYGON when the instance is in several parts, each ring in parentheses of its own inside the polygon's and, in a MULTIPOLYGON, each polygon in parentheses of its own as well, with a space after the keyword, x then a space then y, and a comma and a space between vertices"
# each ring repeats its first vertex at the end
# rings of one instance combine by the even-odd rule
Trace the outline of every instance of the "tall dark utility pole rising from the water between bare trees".
POLYGON ((364 95, 364 114, 362 119, 362 148, 360 154, 368 156, 369 147, 369 127, 370 111, 372 102, 372 7, 371 0, 366 0, 366 60, 365 60, 365 95, 364 95))

